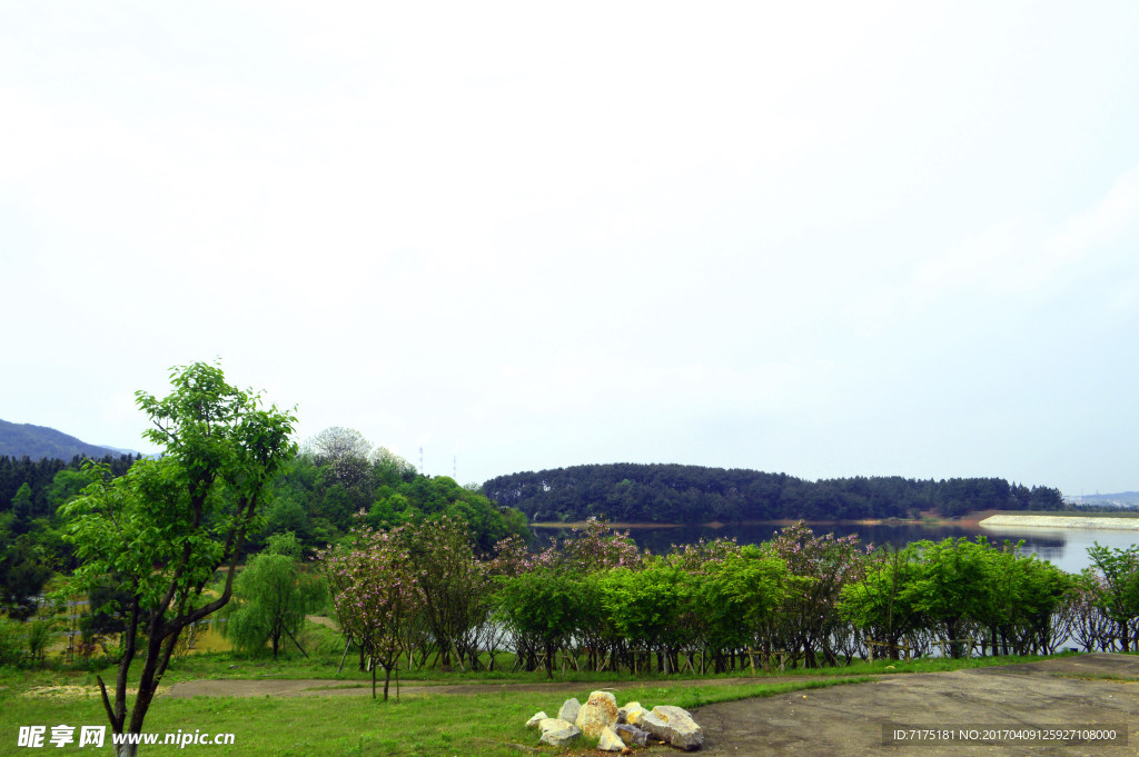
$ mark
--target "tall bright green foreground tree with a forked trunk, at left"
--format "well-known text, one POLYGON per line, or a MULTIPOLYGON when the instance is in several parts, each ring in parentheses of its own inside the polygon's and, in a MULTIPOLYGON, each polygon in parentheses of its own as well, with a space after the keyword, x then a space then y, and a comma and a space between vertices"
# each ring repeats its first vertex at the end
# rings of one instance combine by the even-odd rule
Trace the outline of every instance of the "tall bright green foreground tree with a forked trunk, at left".
MULTIPOLYGON (((296 453, 296 419, 259 395, 226 382, 216 365, 172 370, 164 398, 136 393, 153 428, 146 437, 164 449, 118 478, 93 466, 83 496, 66 504, 68 538, 82 561, 68 593, 118 577, 130 596, 125 645, 112 698, 99 677, 114 733, 141 733, 142 723, 182 631, 230 600, 246 535, 264 504, 267 485, 296 453), (216 596, 203 595, 227 567, 216 596), (139 632, 146 645, 138 649, 139 632), (136 657, 138 693, 128 718, 126 684, 136 657)), ((121 746, 118 755, 133 755, 121 746)))

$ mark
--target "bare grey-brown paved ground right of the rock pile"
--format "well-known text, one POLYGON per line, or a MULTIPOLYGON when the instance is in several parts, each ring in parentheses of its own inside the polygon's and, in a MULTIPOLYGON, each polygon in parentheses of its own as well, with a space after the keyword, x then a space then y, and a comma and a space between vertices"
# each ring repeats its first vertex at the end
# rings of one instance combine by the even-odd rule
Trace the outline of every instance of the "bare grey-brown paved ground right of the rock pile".
POLYGON ((1139 755, 1139 658, 1080 657, 896 676, 765 699, 702 707, 707 755, 842 757, 893 755, 1139 755), (1105 680, 1103 676, 1126 678, 1105 680), (1114 727, 1128 743, 887 744, 883 729, 1114 727))

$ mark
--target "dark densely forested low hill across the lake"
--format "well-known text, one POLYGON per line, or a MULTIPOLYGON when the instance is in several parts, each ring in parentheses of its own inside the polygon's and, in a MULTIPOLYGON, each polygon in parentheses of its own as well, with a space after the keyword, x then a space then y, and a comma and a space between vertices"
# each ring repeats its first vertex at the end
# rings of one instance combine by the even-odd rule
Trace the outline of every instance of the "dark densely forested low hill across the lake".
POLYGON ((977 510, 1060 510, 1056 488, 1003 478, 913 480, 900 476, 808 482, 786 474, 680 464, 574 466, 499 476, 483 492, 533 521, 705 523, 951 517, 977 510))

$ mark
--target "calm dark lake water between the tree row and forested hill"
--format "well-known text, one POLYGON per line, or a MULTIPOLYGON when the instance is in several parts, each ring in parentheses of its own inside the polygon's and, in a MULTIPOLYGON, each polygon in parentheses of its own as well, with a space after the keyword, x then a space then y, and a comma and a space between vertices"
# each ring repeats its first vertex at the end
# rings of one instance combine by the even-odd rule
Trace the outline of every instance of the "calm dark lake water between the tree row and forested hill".
MULTIPOLYGON (((649 549, 659 554, 667 552, 673 544, 691 544, 700 538, 713 540, 735 537, 740 544, 760 544, 769 541, 781 528, 772 525, 723 526, 707 528, 703 526, 681 526, 671 528, 632 528, 630 534, 641 549, 649 549)), ((890 544, 906 546, 911 542, 929 540, 940 542, 943 538, 975 538, 985 536, 990 542, 1000 543, 1003 540, 1018 542, 1024 540, 1024 551, 1038 554, 1042 560, 1049 560, 1063 570, 1080 573, 1091 565, 1088 548, 1099 542, 1105 546, 1126 548, 1139 543, 1139 532, 1107 530, 1091 528, 965 528, 962 526, 813 526, 817 534, 834 533, 836 536, 858 534, 863 543, 890 544)), ((540 542, 547 537, 567 536, 568 532, 554 528, 535 528, 540 542)))

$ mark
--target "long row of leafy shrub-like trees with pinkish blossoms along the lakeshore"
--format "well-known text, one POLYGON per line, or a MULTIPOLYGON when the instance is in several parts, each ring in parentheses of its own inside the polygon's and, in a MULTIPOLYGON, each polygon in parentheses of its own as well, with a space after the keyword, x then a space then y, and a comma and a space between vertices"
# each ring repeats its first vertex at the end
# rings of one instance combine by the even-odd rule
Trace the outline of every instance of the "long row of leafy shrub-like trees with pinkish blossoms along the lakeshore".
MULTIPOLYGON (((337 617, 377 668, 402 664, 644 673, 855 658, 1139 650, 1139 548, 1068 575, 1016 544, 872 549, 796 523, 762 545, 638 550, 598 520, 532 553, 480 559, 461 526, 361 527, 321 556, 337 617)), ((374 675, 375 682, 375 675, 374 675)))

